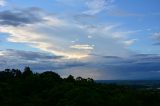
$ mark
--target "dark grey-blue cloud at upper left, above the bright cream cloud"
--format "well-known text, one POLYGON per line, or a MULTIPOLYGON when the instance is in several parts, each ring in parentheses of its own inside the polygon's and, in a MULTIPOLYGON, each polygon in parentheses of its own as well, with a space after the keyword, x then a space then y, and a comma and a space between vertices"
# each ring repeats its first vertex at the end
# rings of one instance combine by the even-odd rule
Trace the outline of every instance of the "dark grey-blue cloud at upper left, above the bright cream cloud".
POLYGON ((25 25, 42 21, 39 18, 38 13, 40 9, 29 8, 26 10, 5 10, 0 12, 0 24, 1 25, 25 25))

